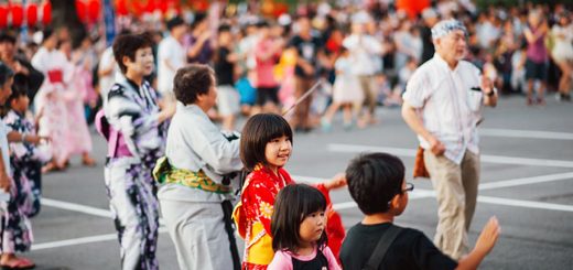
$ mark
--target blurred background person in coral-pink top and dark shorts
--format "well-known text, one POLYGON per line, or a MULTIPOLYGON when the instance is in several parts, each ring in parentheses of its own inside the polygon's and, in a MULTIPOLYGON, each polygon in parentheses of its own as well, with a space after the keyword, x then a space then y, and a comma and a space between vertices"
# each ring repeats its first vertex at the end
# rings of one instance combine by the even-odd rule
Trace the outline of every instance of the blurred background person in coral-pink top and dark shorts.
POLYGON ((252 114, 279 112, 279 83, 274 78, 274 65, 281 56, 283 42, 271 35, 268 22, 259 24, 260 40, 255 47, 257 66, 257 101, 252 114))

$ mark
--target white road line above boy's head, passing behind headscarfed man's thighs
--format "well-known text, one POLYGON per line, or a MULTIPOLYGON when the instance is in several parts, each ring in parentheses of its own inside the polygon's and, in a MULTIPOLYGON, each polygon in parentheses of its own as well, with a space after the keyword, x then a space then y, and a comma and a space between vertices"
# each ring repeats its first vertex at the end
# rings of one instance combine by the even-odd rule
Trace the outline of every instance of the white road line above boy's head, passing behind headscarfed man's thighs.
MULTIPOLYGON (((400 156, 415 156, 415 149, 406 148, 387 148, 387 147, 369 147, 356 144, 328 144, 328 151, 340 153, 360 153, 360 152, 387 152, 400 156)), ((512 164, 512 165, 529 165, 529 166, 553 166, 553 168, 573 168, 572 161, 564 160, 547 160, 547 159, 530 159, 505 155, 489 155, 482 154, 482 162, 497 163, 497 164, 512 164)))

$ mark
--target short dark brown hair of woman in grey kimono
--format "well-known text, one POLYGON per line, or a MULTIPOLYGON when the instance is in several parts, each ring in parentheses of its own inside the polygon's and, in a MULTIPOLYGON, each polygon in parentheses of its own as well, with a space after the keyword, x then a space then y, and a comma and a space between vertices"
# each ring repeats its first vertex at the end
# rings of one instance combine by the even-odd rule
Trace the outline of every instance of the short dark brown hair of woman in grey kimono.
POLYGON ((202 64, 182 67, 173 78, 175 98, 184 105, 194 104, 198 95, 205 95, 215 85, 215 72, 202 64))

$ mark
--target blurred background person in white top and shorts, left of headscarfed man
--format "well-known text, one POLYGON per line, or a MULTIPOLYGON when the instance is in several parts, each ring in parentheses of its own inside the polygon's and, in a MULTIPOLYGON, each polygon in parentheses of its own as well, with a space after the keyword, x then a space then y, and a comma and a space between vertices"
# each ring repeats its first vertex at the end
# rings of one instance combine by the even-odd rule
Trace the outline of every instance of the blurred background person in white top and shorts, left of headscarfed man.
POLYGON ((381 72, 380 61, 378 60, 382 54, 382 44, 366 33, 366 24, 370 20, 367 13, 356 13, 353 17, 353 34, 343 41, 343 46, 348 48, 352 56, 356 60, 356 65, 352 71, 354 75, 358 76, 365 101, 368 106, 367 112, 359 122, 361 127, 375 122, 374 115, 378 90, 375 87, 374 75, 377 72, 381 72))

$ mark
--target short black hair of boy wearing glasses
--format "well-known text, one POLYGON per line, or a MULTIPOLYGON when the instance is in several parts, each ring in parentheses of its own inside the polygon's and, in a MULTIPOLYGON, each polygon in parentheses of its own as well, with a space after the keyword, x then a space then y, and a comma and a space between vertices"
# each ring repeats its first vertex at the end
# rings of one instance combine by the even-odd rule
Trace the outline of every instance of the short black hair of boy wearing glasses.
POLYGON ((346 168, 348 191, 366 214, 385 213, 388 203, 402 193, 404 164, 388 153, 361 154, 346 168))

